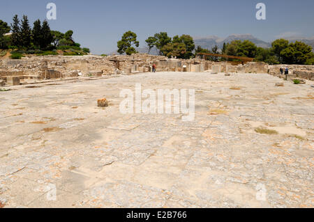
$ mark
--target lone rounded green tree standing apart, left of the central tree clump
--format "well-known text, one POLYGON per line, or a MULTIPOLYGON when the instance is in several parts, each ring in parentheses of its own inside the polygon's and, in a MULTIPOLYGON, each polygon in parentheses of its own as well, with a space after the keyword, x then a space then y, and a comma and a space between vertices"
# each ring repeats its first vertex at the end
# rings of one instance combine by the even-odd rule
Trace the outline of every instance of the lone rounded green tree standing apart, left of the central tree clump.
POLYGON ((127 31, 122 35, 121 40, 117 42, 117 44, 119 54, 126 53, 127 55, 131 55, 137 53, 133 45, 139 47, 140 42, 137 41, 137 35, 135 33, 127 31))

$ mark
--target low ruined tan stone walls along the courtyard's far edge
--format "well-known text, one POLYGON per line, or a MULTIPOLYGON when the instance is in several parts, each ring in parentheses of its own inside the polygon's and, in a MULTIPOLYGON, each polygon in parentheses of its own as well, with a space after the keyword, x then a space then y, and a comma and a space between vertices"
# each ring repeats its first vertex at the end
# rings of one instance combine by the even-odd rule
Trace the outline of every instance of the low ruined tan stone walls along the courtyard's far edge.
MULTIPOLYGON (((54 79, 110 74, 149 72, 156 63, 157 72, 204 72, 215 69, 218 72, 269 73, 278 74, 281 65, 246 63, 231 65, 215 63, 198 58, 177 59, 149 54, 132 56, 27 56, 20 60, 0 60, 0 78, 21 77, 21 79, 54 79)), ((313 65, 289 65, 290 73, 304 79, 313 79, 313 65)))

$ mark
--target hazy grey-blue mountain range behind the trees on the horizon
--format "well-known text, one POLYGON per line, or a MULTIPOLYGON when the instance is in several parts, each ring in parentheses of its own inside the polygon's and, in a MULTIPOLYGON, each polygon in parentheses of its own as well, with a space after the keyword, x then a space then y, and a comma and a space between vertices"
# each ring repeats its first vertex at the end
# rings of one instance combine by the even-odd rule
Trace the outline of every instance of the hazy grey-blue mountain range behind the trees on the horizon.
MULTIPOLYGON (((295 42, 295 41, 304 42, 307 45, 311 45, 314 51, 314 36, 311 38, 290 37, 290 38, 285 38, 285 39, 290 40, 290 42, 295 42)), ((200 46, 204 49, 211 49, 215 45, 218 45, 218 48, 222 49, 223 42, 228 43, 228 42, 232 42, 233 40, 250 40, 251 42, 255 43, 257 47, 263 47, 263 48, 271 47, 271 42, 265 42, 263 40, 260 40, 254 37, 251 34, 232 34, 232 35, 229 35, 227 38, 220 38, 216 35, 194 38, 195 47, 200 46)), ((148 47, 139 47, 137 48, 137 51, 139 51, 140 53, 147 53, 148 47)), ((155 48, 151 49, 150 54, 157 55, 156 49, 155 48)))

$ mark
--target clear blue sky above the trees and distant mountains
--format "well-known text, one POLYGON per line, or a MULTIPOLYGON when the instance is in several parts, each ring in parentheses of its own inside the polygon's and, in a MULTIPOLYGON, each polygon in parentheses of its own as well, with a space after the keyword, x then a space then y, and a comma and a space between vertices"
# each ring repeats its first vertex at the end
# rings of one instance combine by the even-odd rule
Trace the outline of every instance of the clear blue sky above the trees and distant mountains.
POLYGON ((0 19, 28 15, 31 24, 45 19, 46 5, 57 5, 57 20, 50 28, 74 31, 74 39, 95 54, 117 49, 117 40, 128 30, 137 33, 140 47, 154 33, 192 36, 250 33, 271 41, 281 36, 314 35, 313 0, 1 0, 0 19), (267 6, 267 20, 255 19, 257 3, 267 6))

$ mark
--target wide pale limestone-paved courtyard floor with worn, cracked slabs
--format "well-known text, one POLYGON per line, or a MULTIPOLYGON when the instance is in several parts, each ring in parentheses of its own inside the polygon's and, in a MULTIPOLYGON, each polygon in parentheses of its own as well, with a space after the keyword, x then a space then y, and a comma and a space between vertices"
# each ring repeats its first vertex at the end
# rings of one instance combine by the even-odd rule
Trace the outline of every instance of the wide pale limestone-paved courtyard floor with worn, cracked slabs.
POLYGON ((269 74, 159 72, 10 86, 0 92, 0 201, 313 207, 313 82, 276 82, 269 74), (120 91, 135 84, 195 89, 195 120, 120 113, 120 91), (100 98, 109 106, 98 107, 100 98))

